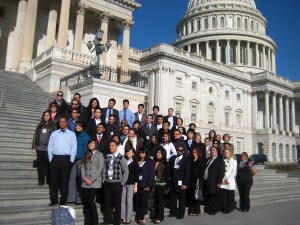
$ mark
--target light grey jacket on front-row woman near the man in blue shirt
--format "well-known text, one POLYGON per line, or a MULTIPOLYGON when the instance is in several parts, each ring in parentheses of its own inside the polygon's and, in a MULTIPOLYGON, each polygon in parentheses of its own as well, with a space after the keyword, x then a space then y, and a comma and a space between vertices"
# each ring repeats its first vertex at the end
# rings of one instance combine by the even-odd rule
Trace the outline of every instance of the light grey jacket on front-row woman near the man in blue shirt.
POLYGON ((82 182, 82 188, 101 188, 104 164, 103 154, 98 151, 93 153, 91 160, 88 160, 86 164, 83 162, 81 166, 81 179, 84 177, 88 178, 92 181, 92 185, 87 186, 85 182, 82 182))

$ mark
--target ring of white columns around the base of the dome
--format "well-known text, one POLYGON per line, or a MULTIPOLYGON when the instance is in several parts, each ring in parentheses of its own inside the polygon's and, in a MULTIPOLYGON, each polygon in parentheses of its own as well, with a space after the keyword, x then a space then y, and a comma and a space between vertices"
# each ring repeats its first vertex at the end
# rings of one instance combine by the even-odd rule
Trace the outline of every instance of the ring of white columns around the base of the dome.
POLYGON ((247 65, 247 66, 253 66, 255 65, 256 67, 266 69, 269 71, 273 71, 274 73, 276 72, 276 60, 275 60, 275 52, 273 49, 265 46, 265 45, 260 45, 258 43, 254 43, 252 46, 255 49, 255 61, 252 61, 251 54, 253 53, 251 48, 251 43, 249 41, 243 41, 246 44, 241 45, 241 40, 213 40, 213 41, 205 41, 205 42, 197 42, 195 44, 189 44, 187 46, 184 46, 186 50, 189 52, 192 52, 192 45, 196 46, 196 53, 199 56, 203 56, 203 49, 201 49, 201 46, 205 46, 205 52, 206 52, 206 58, 212 60, 212 48, 216 48, 216 62, 220 63, 221 62, 221 47, 220 47, 220 41, 224 42, 226 41, 226 46, 225 46, 225 60, 226 64, 230 64, 230 47, 234 46, 235 47, 235 64, 236 65, 247 65), (213 42, 214 45, 211 46, 211 43, 213 42), (234 45, 233 45, 234 42, 234 45), (241 64, 241 47, 244 47, 244 51, 242 52, 242 57, 243 57, 243 63, 241 64), (247 49, 247 51, 246 51, 247 49))

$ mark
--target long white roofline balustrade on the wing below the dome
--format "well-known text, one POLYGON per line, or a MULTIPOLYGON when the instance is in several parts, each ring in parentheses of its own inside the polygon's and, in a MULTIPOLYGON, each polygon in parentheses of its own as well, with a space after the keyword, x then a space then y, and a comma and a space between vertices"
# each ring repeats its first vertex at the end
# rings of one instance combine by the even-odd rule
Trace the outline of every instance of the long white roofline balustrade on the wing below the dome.
POLYGON ((199 63, 199 64, 202 64, 202 66, 204 66, 204 67, 215 69, 222 73, 232 74, 234 77, 239 77, 239 78, 251 81, 251 74, 249 74, 249 73, 245 73, 245 72, 236 70, 236 69, 234 69, 230 66, 227 66, 223 63, 217 63, 213 60, 206 59, 206 58, 198 56, 194 53, 184 51, 182 49, 176 48, 176 47, 168 45, 168 44, 158 44, 158 45, 152 46, 148 49, 145 49, 142 51, 142 57, 145 58, 145 57, 153 55, 155 53, 164 53, 164 54, 176 56, 176 58, 178 58, 178 59, 181 58, 182 60, 189 60, 190 62, 193 62, 193 63, 199 63))

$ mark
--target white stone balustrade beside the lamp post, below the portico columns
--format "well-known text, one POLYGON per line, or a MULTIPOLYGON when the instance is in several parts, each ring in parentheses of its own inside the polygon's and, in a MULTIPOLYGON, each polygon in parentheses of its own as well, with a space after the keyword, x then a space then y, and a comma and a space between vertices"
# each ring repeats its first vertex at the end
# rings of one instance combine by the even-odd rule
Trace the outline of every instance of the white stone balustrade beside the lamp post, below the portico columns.
POLYGON ((66 60, 73 63, 80 63, 86 66, 94 64, 96 61, 96 56, 94 55, 53 46, 52 48, 44 51, 41 55, 33 59, 31 61, 31 67, 34 68, 35 66, 41 64, 49 58, 66 60))

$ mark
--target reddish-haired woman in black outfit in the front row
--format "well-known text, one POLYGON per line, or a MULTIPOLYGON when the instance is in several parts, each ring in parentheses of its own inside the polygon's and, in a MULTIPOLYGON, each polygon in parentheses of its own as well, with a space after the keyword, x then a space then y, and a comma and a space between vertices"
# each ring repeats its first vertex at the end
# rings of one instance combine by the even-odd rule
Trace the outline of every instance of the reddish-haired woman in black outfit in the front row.
POLYGON ((204 161, 202 159, 202 152, 198 147, 191 149, 191 179, 190 188, 187 191, 187 202, 189 206, 189 216, 198 216, 200 211, 200 201, 194 200, 195 189, 197 182, 200 189, 203 187, 204 161))

